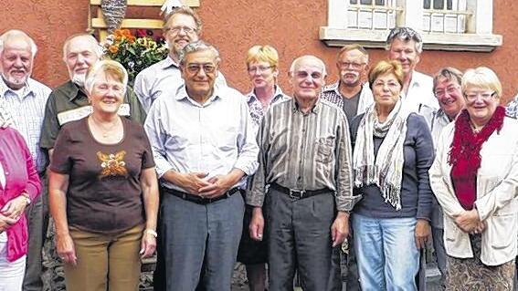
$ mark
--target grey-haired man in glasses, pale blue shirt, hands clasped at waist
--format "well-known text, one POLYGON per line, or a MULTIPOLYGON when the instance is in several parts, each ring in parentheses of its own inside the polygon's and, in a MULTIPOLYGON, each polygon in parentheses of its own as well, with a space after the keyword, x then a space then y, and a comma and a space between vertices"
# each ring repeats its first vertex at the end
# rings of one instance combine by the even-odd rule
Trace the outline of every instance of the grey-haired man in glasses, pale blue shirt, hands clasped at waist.
POLYGON ((215 86, 219 53, 202 41, 184 47, 185 85, 149 111, 149 136, 163 198, 158 228, 167 278, 162 290, 230 291, 238 255, 246 176, 259 148, 246 99, 215 86))

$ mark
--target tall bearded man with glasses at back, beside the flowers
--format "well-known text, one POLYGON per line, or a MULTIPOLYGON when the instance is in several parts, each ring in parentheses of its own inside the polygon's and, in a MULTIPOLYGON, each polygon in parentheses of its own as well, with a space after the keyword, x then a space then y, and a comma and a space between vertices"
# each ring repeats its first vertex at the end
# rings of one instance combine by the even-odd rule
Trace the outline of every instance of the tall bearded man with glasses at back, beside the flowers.
MULTIPOLYGON (((133 88, 147 111, 153 101, 161 95, 172 95, 184 83, 178 66, 180 52, 190 42, 201 36, 202 23, 193 9, 182 6, 175 8, 164 20, 164 37, 169 47, 169 56, 135 78, 133 88)), ((218 86, 227 86, 223 74, 217 74, 218 86)))

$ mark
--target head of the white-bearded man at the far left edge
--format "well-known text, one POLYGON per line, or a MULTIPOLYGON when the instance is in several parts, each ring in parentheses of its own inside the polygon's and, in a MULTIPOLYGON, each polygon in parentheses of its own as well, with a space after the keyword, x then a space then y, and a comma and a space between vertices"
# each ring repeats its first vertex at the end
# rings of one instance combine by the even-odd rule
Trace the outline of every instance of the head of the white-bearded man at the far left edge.
POLYGON ((21 30, 8 30, 0 36, 0 68, 7 87, 20 89, 26 85, 36 52, 34 40, 21 30))

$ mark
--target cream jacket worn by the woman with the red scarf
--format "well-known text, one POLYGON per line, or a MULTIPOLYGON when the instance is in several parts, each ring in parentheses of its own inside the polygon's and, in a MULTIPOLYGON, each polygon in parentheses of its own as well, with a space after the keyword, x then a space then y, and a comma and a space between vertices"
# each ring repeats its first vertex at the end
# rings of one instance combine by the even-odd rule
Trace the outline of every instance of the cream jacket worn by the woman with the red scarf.
MULTIPOLYGON (((455 195, 448 163, 455 123, 440 135, 436 160, 429 170, 430 185, 444 212, 444 246, 457 258, 473 257, 470 236, 455 224, 454 217, 465 210, 455 195)), ((477 173, 476 208, 486 223, 481 244, 485 265, 502 265, 516 256, 518 235, 518 120, 505 118, 482 145, 481 168, 477 173)))

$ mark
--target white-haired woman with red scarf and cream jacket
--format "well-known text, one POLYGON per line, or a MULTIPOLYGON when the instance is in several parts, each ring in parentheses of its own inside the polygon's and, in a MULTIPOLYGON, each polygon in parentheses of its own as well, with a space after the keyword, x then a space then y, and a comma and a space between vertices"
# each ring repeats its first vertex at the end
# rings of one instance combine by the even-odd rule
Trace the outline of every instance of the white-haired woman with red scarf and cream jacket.
POLYGON ((489 68, 462 78, 466 108, 441 134, 429 170, 444 211, 447 288, 512 290, 517 247, 518 121, 489 68))

